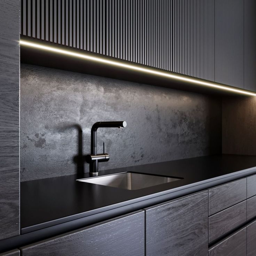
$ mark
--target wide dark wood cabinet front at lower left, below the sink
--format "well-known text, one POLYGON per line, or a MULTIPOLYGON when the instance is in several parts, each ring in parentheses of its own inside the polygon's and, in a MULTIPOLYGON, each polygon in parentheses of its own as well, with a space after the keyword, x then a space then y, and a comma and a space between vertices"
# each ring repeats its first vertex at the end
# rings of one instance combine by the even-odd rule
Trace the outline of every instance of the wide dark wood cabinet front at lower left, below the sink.
POLYGON ((22 256, 144 256, 144 211, 22 247, 22 256))

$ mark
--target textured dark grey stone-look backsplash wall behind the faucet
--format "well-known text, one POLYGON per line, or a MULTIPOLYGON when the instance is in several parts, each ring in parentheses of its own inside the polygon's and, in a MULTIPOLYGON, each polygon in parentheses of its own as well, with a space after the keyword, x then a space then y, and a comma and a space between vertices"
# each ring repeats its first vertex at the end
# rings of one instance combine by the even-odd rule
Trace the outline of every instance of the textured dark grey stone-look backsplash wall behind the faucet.
POLYGON ((116 120, 98 130, 101 170, 221 153, 221 99, 22 64, 21 180, 88 172, 91 126, 116 120))

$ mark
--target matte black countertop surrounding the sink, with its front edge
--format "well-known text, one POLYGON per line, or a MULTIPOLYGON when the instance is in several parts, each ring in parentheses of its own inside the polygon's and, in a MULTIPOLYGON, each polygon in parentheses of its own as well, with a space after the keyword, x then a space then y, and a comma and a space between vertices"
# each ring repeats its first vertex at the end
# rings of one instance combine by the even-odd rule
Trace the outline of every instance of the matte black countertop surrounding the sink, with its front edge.
POLYGON ((196 192, 206 187, 248 176, 256 173, 256 156, 213 155, 100 171, 100 175, 123 171, 183 179, 140 190, 125 190, 76 181, 78 178, 89 177, 88 173, 82 176, 69 175, 22 182, 22 233, 95 216, 95 214, 134 203, 144 202, 143 207, 149 206, 153 202, 147 200, 152 198, 155 204, 167 199, 167 197, 161 197, 163 195, 186 189, 190 189, 190 193, 196 192), (199 185, 204 185, 204 187, 199 185), (159 200, 155 200, 156 198, 159 200))

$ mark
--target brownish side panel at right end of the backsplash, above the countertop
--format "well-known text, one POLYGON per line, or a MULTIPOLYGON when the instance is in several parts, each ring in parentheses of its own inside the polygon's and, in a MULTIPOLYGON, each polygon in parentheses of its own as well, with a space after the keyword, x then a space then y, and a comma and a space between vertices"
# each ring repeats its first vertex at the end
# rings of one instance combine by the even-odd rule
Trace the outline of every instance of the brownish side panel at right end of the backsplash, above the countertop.
POLYGON ((256 155, 255 109, 255 97, 223 98, 223 154, 256 155))

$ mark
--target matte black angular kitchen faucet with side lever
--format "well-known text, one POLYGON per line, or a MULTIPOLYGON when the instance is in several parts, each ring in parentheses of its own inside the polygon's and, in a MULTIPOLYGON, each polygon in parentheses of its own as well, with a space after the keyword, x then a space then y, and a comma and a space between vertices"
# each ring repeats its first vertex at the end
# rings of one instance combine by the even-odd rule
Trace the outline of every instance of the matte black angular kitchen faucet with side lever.
POLYGON ((98 162, 109 161, 109 154, 105 153, 103 143, 103 154, 97 154, 97 129, 100 127, 126 127, 126 121, 97 122, 91 127, 91 154, 86 156, 86 162, 90 164, 90 174, 98 175, 98 162))

